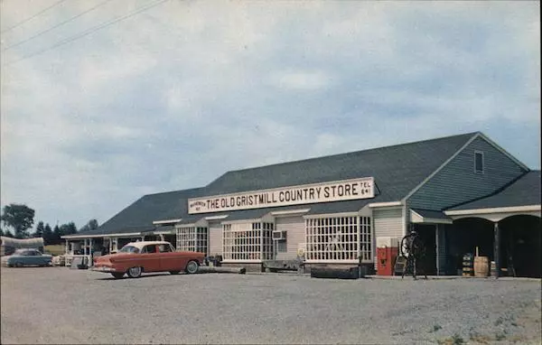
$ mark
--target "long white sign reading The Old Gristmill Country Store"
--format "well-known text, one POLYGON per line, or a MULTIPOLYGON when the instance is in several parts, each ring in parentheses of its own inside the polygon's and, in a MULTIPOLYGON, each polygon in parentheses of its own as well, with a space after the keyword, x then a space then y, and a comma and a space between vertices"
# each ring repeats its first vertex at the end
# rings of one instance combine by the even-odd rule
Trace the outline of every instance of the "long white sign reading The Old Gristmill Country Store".
POLYGON ((276 206, 302 205, 374 198, 372 177, 338 182, 304 184, 262 191, 216 195, 188 200, 188 213, 249 210, 276 206))

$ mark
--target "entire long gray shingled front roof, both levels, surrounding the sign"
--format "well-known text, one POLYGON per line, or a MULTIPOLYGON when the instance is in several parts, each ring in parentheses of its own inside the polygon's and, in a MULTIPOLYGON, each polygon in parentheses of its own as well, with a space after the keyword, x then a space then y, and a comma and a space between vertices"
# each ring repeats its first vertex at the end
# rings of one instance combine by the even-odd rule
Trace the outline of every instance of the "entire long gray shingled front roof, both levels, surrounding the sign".
POLYGON ((255 219, 267 208, 188 215, 187 200, 198 196, 239 191, 257 191, 317 182, 374 177, 376 197, 300 205, 311 208, 309 214, 357 211, 369 202, 401 200, 409 191, 440 167, 465 145, 475 133, 453 135, 403 145, 393 145, 348 154, 334 154, 303 161, 278 163, 224 173, 203 188, 145 195, 107 220, 98 229, 77 235, 129 233, 154 228, 154 220, 180 219, 190 224, 206 216, 229 214, 225 220, 255 219))

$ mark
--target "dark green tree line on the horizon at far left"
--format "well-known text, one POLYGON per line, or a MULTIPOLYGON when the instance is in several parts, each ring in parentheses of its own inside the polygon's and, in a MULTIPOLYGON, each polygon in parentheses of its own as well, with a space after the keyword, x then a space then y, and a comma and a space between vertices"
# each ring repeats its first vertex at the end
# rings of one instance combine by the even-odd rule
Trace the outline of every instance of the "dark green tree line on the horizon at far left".
POLYGON ((90 219, 83 227, 78 228, 73 221, 66 224, 57 224, 51 228, 49 223, 39 221, 34 232, 30 229, 34 224, 35 211, 23 204, 9 204, 2 209, 0 220, 0 236, 8 238, 43 238, 45 245, 61 244, 64 240, 61 236, 77 234, 79 231, 88 231, 98 228, 98 220, 90 219), (14 230, 14 232, 11 231, 14 230))

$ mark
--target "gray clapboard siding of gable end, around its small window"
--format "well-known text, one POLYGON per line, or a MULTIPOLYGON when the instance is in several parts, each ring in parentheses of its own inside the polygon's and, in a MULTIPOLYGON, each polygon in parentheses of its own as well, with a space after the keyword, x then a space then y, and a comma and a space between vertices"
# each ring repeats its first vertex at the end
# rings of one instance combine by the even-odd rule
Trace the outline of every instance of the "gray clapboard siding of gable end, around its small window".
POLYGON ((443 210, 489 195, 512 182, 523 168, 484 138, 477 137, 408 200, 413 209, 443 210), (484 173, 474 173, 474 152, 483 152, 484 173))

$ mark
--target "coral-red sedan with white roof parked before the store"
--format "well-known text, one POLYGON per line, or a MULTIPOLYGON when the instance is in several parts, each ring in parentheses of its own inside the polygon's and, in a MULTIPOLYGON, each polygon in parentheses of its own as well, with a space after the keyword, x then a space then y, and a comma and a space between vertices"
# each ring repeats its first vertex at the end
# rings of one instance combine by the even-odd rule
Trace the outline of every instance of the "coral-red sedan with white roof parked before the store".
POLYGON ((184 271, 193 274, 198 272, 204 256, 197 252, 176 252, 169 242, 164 241, 130 242, 117 254, 96 257, 92 270, 110 273, 117 279, 125 274, 137 278, 144 272, 176 275, 184 271))

